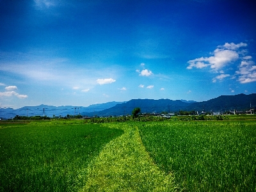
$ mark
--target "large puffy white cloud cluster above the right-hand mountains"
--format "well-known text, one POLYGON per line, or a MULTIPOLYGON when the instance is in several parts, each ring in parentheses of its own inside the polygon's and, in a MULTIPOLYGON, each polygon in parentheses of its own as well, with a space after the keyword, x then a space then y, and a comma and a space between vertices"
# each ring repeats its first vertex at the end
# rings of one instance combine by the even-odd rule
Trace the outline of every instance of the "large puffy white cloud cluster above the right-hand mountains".
MULTIPOLYGON (((206 68, 210 67, 214 72, 218 72, 221 75, 216 76, 212 79, 213 83, 217 80, 223 80, 225 77, 230 75, 225 74, 224 70, 230 63, 235 63, 237 65, 238 61, 241 62, 238 66, 238 70, 230 79, 238 78, 240 83, 251 83, 256 81, 256 65, 252 61, 252 56, 246 56, 247 50, 241 47, 246 47, 245 43, 225 43, 224 45, 219 45, 217 49, 214 50, 214 56, 196 58, 195 60, 188 61, 188 69, 195 68, 206 68)), ((226 68, 227 69, 227 68, 226 68)), ((234 70, 234 65, 228 70, 234 70)))

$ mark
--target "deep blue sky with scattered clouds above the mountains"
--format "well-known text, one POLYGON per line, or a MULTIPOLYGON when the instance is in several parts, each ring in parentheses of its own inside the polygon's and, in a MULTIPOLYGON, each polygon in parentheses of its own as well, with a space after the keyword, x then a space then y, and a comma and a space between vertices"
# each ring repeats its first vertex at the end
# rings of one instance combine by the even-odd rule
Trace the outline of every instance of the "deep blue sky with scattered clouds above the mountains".
POLYGON ((0 0, 0 107, 256 93, 250 2, 0 0))

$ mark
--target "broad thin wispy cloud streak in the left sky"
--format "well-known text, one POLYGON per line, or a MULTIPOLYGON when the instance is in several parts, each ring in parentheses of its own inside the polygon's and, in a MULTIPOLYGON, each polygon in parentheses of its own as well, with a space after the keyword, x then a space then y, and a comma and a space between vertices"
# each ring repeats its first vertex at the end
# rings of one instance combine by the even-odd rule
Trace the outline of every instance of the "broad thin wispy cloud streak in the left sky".
MULTIPOLYGON (((49 56, 47 51, 31 52, 0 52, 0 71, 4 74, 15 74, 40 84, 54 84, 73 87, 83 87, 84 84, 93 86, 97 84, 95 76, 102 77, 105 74, 115 76, 113 68, 102 67, 99 70, 92 63, 84 63, 83 67, 75 65, 67 58, 49 56), (44 54, 45 56, 42 56, 44 54), (10 59, 12 58, 12 60, 10 59), (86 66, 86 67, 84 67, 86 66), (77 84, 79 79, 79 84, 77 84)), ((100 79, 100 78, 99 78, 100 79)), ((0 84, 1 85, 1 84, 0 84)), ((2 86, 5 86, 3 83, 2 86)))

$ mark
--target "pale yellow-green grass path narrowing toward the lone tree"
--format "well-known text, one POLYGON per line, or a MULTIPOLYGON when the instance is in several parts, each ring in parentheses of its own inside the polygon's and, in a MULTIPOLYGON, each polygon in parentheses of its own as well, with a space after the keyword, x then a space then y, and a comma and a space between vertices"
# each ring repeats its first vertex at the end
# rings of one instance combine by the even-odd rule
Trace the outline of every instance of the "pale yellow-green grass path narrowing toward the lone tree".
POLYGON ((108 124, 124 134, 110 141, 88 166, 81 191, 176 191, 173 175, 166 175, 150 159, 136 124, 108 124))

